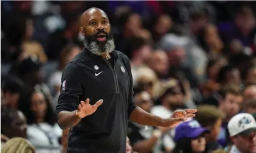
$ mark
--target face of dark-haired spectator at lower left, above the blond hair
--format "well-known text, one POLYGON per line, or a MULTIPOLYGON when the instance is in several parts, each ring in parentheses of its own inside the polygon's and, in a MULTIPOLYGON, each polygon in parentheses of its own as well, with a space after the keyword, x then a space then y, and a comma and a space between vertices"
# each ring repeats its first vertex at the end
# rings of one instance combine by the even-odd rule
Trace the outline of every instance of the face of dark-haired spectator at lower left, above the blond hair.
POLYGON ((13 119, 10 121, 10 126, 6 127, 6 129, 3 129, 7 137, 13 138, 13 137, 21 137, 26 138, 27 137, 27 124, 26 124, 26 118, 18 111, 17 113, 13 114, 13 119))

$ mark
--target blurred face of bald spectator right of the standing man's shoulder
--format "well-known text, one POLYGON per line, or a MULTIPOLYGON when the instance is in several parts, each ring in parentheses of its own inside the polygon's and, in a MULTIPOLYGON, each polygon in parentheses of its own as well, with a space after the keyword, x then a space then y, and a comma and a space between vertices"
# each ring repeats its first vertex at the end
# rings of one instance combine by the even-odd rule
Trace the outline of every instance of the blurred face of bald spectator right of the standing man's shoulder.
POLYGON ((165 76, 169 71, 169 61, 166 52, 154 52, 150 61, 150 68, 152 68, 158 76, 165 76))

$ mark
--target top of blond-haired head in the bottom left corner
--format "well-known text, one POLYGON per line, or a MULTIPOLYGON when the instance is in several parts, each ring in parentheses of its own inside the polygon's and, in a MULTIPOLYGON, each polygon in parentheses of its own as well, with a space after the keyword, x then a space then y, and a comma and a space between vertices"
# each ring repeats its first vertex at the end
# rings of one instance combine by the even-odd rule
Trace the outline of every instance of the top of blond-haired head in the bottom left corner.
POLYGON ((1 147, 2 153, 35 153, 35 148, 24 138, 12 138, 1 147))

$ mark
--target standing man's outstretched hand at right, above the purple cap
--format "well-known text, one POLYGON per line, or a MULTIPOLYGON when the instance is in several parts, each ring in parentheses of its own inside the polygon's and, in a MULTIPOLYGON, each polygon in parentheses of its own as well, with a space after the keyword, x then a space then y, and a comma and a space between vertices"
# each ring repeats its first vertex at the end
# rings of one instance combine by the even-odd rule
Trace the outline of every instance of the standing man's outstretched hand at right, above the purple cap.
POLYGON ((196 114, 194 114, 196 112, 196 109, 176 110, 169 118, 166 119, 166 127, 176 127, 181 122, 196 116, 196 114))

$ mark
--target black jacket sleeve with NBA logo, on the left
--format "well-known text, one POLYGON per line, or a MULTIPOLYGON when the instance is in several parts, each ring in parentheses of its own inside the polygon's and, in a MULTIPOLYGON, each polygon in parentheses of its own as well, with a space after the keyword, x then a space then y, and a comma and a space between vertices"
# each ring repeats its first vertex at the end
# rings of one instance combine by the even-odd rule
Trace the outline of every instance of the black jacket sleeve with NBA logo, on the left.
POLYGON ((56 118, 59 112, 78 109, 79 99, 82 96, 82 84, 79 78, 79 67, 75 63, 68 63, 62 74, 62 85, 56 106, 56 118))

